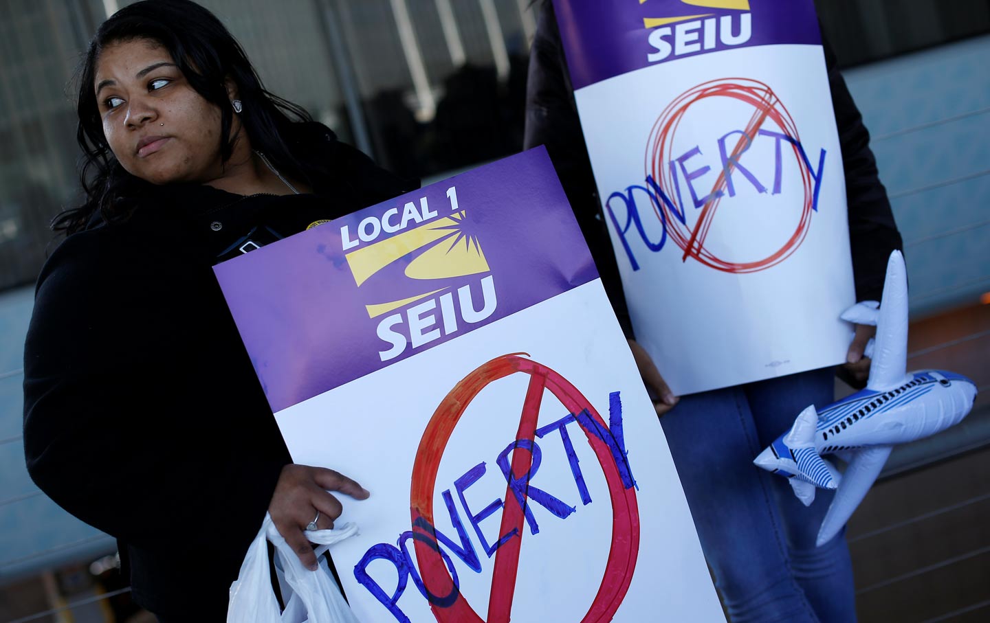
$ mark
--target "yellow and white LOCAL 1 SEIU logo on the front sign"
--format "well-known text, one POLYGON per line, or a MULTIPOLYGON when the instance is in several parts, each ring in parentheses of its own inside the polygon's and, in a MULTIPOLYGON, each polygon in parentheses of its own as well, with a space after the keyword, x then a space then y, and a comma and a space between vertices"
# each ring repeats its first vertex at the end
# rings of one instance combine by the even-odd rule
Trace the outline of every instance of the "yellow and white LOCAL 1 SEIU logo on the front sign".
POLYGON ((364 306, 368 317, 381 317, 377 335, 388 345, 378 352, 382 361, 481 322, 498 305, 491 269, 465 211, 457 206, 456 188, 447 189, 446 197, 446 217, 423 197, 381 218, 365 218, 357 226, 357 239, 347 225, 341 227, 345 250, 373 242, 345 257, 364 300, 374 301, 364 306), (395 235, 374 242, 383 231, 395 235))

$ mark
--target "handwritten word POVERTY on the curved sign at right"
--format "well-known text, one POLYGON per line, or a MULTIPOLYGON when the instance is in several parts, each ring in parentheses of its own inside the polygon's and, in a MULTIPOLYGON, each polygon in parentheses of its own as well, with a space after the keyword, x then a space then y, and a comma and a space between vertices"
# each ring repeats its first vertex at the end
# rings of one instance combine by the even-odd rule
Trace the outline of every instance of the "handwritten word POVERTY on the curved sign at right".
MULTIPOLYGON (((629 257, 633 270, 640 270, 640 262, 637 260, 636 253, 634 253, 633 246, 630 243, 630 230, 632 227, 636 227, 636 232, 639 234, 639 238, 643 241, 646 248, 649 251, 656 253, 663 249, 667 241, 668 214, 682 225, 687 225, 688 210, 685 208, 685 202, 682 196, 681 180, 683 180, 683 185, 687 187, 691 204, 694 205, 695 209, 700 209, 706 204, 719 200, 727 195, 730 198, 736 197, 739 192, 737 189, 737 183, 740 179, 734 179, 734 173, 739 173, 745 182, 750 184, 757 193, 779 195, 783 192, 782 146, 785 143, 791 145, 795 152, 799 154, 801 159, 799 164, 803 164, 804 169, 808 171, 813 181, 811 203, 812 210, 817 212, 819 190, 821 189, 825 169, 825 149, 821 150, 818 168, 816 169, 811 160, 808 158, 808 154, 805 152, 804 145, 801 141, 789 134, 761 129, 757 131, 754 136, 750 137, 750 134, 746 134, 742 130, 734 130, 728 134, 722 135, 718 139, 719 168, 722 172, 720 182, 724 180, 724 188, 720 188, 717 185, 711 193, 704 196, 699 196, 700 193, 698 192, 696 185, 702 184, 703 182, 701 181, 701 178, 708 176, 710 173, 714 173, 714 171, 708 164, 699 165, 699 160, 689 162, 699 156, 704 156, 701 151, 701 147, 699 145, 695 145, 680 156, 668 160, 666 163, 670 172, 670 179, 672 180, 672 193, 669 192, 671 190, 669 188, 664 190, 664 188, 656 182, 652 175, 646 175, 644 180, 645 186, 635 184, 629 186, 623 192, 616 191, 609 196, 608 200, 605 202, 605 208, 608 211, 612 224, 615 226, 616 231, 619 234, 619 238, 622 241, 623 248, 626 250, 626 255, 629 257), (736 138, 737 136, 738 138, 736 138), (761 136, 775 142, 773 151, 773 181, 769 186, 760 181, 760 179, 753 173, 752 168, 754 167, 752 167, 751 164, 743 166, 740 162, 743 153, 746 152, 761 136), (732 149, 731 146, 726 144, 727 141, 731 140, 742 141, 741 147, 737 147, 735 150, 732 149), (656 234, 656 236, 658 236, 657 239, 651 239, 650 235, 646 232, 644 220, 641 216, 641 208, 639 204, 637 204, 637 193, 640 193, 641 196, 644 195, 649 201, 647 214, 655 214, 660 221, 661 226, 659 233, 656 234), (671 196, 676 198, 676 202, 671 198, 671 196), (625 210, 624 223, 620 223, 620 219, 616 215, 616 208, 619 207, 620 204, 621 209, 625 210)), ((764 177, 764 179, 766 178, 764 177)), ((633 239, 636 239, 635 235, 633 236, 633 239)))

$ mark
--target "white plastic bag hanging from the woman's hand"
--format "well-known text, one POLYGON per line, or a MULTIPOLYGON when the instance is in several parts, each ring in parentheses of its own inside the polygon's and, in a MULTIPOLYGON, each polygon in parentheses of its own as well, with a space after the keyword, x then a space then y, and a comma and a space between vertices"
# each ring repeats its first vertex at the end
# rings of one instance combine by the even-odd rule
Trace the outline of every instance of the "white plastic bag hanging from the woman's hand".
POLYGON ((227 623, 358 623, 323 557, 328 547, 357 534, 357 526, 346 523, 334 530, 313 530, 306 536, 320 545, 315 554, 320 569, 311 572, 275 529, 265 513, 264 522, 247 550, 241 573, 231 584, 227 623), (268 546, 275 546, 275 567, 285 610, 278 606, 268 571, 268 546))

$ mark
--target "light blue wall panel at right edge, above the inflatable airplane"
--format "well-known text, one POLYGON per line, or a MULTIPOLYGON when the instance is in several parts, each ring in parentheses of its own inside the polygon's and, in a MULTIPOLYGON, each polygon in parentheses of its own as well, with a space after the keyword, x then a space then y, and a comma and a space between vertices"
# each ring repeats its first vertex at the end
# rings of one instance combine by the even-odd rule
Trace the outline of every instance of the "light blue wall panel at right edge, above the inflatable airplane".
POLYGON ((990 291, 990 37, 846 72, 905 241, 917 318, 990 291))

